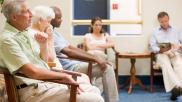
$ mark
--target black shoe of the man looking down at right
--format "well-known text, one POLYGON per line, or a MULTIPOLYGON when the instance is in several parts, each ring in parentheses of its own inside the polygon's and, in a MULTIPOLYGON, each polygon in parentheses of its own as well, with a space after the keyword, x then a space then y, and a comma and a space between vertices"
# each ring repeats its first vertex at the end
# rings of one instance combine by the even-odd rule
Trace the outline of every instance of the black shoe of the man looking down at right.
POLYGON ((170 99, 175 101, 178 96, 182 94, 182 88, 173 88, 171 91, 171 97, 170 99))

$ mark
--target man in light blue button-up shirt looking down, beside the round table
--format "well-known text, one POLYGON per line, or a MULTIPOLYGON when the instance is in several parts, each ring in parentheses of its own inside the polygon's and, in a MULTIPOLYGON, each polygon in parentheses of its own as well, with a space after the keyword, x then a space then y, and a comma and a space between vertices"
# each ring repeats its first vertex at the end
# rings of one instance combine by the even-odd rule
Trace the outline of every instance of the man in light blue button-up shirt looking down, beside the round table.
POLYGON ((157 63, 163 73, 166 92, 172 92, 171 100, 176 100, 182 94, 182 35, 169 25, 166 12, 158 14, 160 27, 154 29, 150 39, 150 48, 156 53, 157 63))

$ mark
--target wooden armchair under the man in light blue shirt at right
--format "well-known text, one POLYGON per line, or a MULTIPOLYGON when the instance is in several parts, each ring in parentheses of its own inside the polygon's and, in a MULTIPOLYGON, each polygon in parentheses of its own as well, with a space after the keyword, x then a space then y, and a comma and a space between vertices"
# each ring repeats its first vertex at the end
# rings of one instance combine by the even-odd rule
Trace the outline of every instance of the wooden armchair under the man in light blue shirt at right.
POLYGON ((162 73, 160 66, 156 63, 156 54, 151 53, 151 69, 150 69, 150 92, 154 91, 154 75, 155 73, 162 73))

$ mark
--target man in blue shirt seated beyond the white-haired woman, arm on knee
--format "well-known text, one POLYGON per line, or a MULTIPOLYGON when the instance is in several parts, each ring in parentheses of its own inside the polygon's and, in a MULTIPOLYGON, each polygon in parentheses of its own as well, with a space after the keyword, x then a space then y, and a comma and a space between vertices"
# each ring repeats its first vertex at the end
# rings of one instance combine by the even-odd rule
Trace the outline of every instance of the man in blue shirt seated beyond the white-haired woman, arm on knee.
MULTIPOLYGON (((61 10, 57 7, 52 7, 55 12, 55 19, 51 21, 52 26, 59 27, 62 22, 61 10)), ((81 60, 91 60, 96 62, 93 65, 92 76, 102 77, 102 83, 104 88, 104 95, 106 102, 117 102, 118 90, 115 79, 114 68, 108 64, 107 61, 99 59, 85 51, 71 46, 58 32, 54 33, 54 46, 57 55, 68 56, 71 58, 81 60), (111 84, 112 83, 112 84, 111 84)), ((59 59, 63 68, 66 70, 73 70, 78 72, 87 73, 88 63, 72 61, 68 59, 59 59)))

